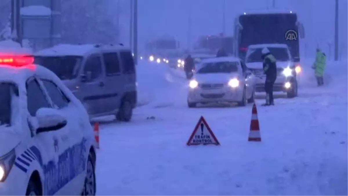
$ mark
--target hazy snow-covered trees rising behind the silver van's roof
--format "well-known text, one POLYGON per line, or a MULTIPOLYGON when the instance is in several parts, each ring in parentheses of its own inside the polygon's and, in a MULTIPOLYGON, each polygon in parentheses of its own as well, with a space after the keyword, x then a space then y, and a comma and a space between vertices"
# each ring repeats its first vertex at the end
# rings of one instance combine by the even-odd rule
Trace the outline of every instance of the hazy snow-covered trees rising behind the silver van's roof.
POLYGON ((81 0, 62 0, 62 41, 71 44, 118 43, 115 12, 110 12, 113 4, 110 0, 83 3, 81 0))

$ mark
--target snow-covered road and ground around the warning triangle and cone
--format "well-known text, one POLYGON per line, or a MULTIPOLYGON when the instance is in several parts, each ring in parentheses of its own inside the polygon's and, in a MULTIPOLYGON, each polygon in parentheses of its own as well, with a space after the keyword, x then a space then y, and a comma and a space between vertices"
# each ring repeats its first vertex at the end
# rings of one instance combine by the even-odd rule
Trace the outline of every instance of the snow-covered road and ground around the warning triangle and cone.
POLYGON ((327 86, 318 88, 309 60, 299 97, 258 107, 260 143, 247 142, 251 105, 188 108, 180 73, 138 67, 133 121, 101 125, 97 195, 346 195, 346 64, 328 62, 327 86), (201 115, 221 146, 185 145, 201 115))

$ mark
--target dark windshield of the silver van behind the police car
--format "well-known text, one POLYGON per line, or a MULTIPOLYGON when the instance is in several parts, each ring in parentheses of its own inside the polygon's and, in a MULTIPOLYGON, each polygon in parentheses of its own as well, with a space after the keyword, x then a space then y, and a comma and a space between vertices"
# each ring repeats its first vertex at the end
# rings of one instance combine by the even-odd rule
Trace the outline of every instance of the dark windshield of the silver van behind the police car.
POLYGON ((61 80, 76 78, 82 56, 35 56, 34 63, 53 71, 61 80))

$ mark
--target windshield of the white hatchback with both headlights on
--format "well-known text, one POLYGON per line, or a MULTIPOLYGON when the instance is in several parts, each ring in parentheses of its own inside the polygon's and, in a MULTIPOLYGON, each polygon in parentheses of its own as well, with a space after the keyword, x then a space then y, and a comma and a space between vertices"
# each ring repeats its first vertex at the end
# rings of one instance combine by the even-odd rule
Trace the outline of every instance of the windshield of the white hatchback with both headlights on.
POLYGON ((209 62, 203 63, 197 74, 232 73, 238 71, 238 62, 209 62))

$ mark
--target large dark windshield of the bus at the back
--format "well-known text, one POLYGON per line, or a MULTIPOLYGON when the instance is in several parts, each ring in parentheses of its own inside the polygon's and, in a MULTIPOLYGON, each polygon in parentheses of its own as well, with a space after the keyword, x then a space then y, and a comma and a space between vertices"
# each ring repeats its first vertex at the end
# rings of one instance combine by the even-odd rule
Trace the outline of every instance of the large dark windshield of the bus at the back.
POLYGON ((288 30, 298 33, 296 14, 252 14, 239 17, 239 51, 244 58, 246 48, 253 44, 286 44, 294 59, 299 60, 299 40, 286 40, 288 30), (244 53, 244 55, 243 55, 244 53))

